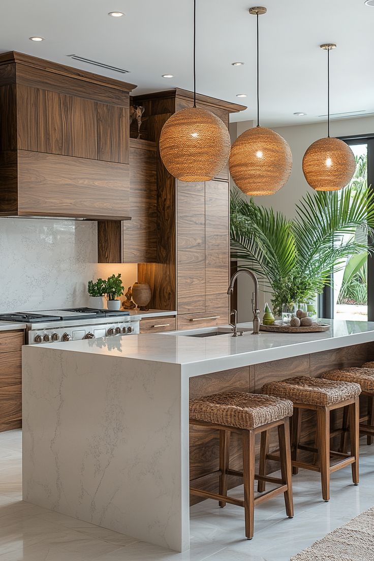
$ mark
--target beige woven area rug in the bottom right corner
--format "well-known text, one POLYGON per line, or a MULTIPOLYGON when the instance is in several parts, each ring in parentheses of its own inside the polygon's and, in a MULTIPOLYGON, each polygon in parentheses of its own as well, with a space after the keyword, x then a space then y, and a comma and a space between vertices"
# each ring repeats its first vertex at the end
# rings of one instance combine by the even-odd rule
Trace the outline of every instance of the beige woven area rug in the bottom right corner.
POLYGON ((290 561, 374 561, 374 507, 336 528, 290 561))

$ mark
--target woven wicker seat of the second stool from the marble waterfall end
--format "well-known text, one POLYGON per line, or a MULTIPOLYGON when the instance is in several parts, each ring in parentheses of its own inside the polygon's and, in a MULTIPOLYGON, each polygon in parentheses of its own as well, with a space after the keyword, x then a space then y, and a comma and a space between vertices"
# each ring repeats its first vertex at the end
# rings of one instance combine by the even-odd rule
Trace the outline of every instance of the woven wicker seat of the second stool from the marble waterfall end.
POLYGON ((361 387, 351 382, 298 376, 265 384, 262 392, 281 399, 291 399, 294 403, 326 407, 359 396, 361 387))

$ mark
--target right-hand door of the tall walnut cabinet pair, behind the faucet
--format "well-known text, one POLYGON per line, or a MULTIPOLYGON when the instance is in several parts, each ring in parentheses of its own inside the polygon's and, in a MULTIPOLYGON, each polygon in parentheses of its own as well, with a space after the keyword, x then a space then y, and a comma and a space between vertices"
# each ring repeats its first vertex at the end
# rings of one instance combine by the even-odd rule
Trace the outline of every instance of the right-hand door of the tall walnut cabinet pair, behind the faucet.
POLYGON ((205 183, 205 311, 228 310, 229 185, 205 183))

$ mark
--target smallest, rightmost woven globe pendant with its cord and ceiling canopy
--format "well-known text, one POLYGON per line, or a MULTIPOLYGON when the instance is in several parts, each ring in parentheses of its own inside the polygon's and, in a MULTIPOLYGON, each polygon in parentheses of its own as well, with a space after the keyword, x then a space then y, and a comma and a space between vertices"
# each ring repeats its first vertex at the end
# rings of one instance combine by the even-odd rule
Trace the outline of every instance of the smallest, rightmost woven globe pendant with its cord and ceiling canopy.
POLYGON ((327 137, 309 146, 303 158, 303 172, 316 191, 339 191, 354 176, 356 164, 348 144, 330 137, 330 50, 336 45, 326 43, 320 48, 327 50, 327 137))

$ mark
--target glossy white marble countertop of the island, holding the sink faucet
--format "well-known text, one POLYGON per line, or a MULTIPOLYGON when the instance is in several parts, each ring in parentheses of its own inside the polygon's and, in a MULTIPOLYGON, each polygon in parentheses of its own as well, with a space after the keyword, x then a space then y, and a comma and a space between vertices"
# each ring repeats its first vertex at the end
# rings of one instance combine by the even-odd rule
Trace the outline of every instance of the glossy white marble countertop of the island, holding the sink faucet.
MULTIPOLYGON (((177 364, 182 365, 184 375, 198 376, 374 341, 374 322, 326 321, 331 324, 331 329, 323 333, 261 332, 260 335, 252 335, 251 331, 247 331, 237 338, 229 333, 218 337, 196 338, 184 337, 174 332, 54 343, 53 348, 66 352, 177 364)), ((241 327, 250 328, 251 324, 241 324, 241 327)), ((39 349, 42 351, 43 348, 52 346, 47 343, 34 348, 38 352, 39 349)))

